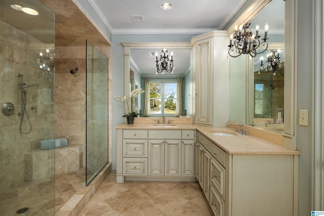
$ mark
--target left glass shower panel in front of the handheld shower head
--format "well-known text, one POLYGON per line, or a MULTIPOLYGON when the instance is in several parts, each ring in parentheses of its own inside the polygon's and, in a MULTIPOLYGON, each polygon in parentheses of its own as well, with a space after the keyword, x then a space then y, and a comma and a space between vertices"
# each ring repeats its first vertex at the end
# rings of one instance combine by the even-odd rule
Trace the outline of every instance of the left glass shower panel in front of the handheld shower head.
POLYGON ((55 14, 37 0, 0 14, 0 214, 55 215, 54 149, 39 145, 54 138, 55 14))

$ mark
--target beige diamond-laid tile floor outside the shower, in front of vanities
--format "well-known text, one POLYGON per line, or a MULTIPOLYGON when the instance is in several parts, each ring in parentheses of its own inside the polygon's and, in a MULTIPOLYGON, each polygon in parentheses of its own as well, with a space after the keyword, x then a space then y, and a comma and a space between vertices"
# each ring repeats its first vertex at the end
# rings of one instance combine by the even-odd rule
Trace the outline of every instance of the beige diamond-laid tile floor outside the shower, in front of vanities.
POLYGON ((116 184, 112 170, 80 216, 214 215, 197 182, 133 182, 116 184))

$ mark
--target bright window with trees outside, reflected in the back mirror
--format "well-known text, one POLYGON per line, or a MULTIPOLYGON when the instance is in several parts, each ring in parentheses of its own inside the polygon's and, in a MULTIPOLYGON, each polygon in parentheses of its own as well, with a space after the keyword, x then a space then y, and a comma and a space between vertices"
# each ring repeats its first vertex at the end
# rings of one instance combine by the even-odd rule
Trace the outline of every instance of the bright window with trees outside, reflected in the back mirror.
POLYGON ((150 115, 176 115, 177 81, 150 81, 150 115))

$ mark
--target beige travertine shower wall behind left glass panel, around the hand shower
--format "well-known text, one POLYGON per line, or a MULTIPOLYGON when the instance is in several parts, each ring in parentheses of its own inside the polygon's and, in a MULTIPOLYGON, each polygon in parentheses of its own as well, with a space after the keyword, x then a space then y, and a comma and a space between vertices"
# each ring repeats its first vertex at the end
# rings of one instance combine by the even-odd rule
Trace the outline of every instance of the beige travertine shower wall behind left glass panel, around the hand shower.
MULTIPOLYGON (((11 102, 15 114, 0 113, 0 188, 15 189, 24 182, 45 182, 54 178, 54 150, 41 151, 39 141, 54 138, 54 77, 42 76, 37 67, 39 52, 51 49, 26 33, 0 21, 0 104, 11 102), (17 73, 26 84, 39 83, 27 91, 27 113, 32 125, 29 134, 19 131, 21 85, 17 73), (30 110, 36 107, 37 112, 30 110)), ((23 131, 29 131, 24 117, 23 131)))

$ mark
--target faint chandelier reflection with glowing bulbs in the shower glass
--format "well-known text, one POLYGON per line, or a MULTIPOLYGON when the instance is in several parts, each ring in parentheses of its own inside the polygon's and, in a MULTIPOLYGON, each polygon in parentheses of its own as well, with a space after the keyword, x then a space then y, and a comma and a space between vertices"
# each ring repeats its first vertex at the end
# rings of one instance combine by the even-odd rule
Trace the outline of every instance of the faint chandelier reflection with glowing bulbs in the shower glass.
POLYGON ((48 78, 50 81, 53 80, 54 76, 54 54, 50 55, 50 50, 46 50, 46 56, 42 52, 39 52, 37 58, 38 69, 42 72, 42 79, 48 78))

